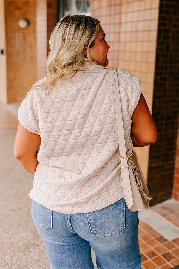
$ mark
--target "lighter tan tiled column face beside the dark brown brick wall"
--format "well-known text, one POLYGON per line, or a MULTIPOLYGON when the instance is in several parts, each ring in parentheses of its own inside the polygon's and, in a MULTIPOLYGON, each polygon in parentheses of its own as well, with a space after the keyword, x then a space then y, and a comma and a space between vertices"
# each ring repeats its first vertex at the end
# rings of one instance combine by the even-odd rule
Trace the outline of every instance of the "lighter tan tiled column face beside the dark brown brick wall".
MULTIPOLYGON (((141 80, 142 93, 152 112, 159 0, 123 0, 118 67, 141 80)), ((147 179, 149 146, 135 148, 147 179)))

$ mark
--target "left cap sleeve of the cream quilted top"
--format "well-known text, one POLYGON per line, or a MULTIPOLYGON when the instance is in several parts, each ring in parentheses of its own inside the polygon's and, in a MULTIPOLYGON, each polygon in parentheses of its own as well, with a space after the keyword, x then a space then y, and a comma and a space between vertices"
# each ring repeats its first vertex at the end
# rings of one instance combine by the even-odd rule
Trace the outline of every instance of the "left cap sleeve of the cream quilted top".
POLYGON ((39 135, 38 103, 36 88, 27 93, 18 109, 18 120, 29 132, 39 135))

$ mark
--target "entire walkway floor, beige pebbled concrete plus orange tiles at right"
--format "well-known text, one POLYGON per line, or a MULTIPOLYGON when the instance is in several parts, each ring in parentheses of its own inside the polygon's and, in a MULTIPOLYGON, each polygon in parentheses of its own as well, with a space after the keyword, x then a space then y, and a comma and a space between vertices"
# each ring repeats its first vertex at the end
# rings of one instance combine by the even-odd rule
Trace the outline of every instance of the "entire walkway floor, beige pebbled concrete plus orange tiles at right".
MULTIPOLYGON (((16 112, 17 105, 0 104, 0 269, 49 269, 44 244, 31 219, 28 194, 33 176, 13 156, 16 112)), ((142 269, 179 265, 179 202, 168 200, 140 212, 139 218, 142 269)))

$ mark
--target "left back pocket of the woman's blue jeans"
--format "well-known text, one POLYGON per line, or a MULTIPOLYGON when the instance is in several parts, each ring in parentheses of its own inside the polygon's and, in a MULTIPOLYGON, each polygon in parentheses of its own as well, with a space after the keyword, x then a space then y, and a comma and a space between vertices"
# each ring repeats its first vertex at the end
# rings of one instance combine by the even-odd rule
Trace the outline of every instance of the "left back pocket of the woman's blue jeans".
POLYGON ((32 200, 32 219, 35 225, 42 228, 52 228, 53 210, 32 200))

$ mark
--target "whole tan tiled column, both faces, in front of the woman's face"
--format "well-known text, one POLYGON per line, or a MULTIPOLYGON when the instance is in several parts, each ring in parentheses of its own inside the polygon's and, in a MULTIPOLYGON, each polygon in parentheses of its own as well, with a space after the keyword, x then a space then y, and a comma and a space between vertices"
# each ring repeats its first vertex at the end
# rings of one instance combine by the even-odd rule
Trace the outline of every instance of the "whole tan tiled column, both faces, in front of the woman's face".
MULTIPOLYGON (((142 93, 152 111, 159 0, 91 0, 90 9, 106 32, 110 45, 108 66, 120 67, 140 78, 142 93)), ((149 146, 136 151, 147 179, 149 146)))

